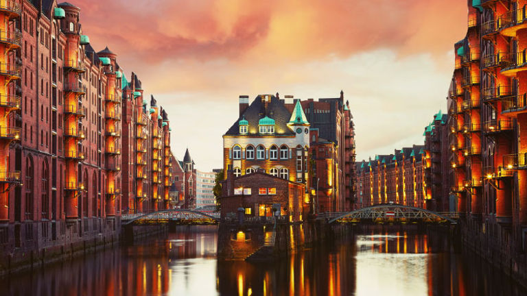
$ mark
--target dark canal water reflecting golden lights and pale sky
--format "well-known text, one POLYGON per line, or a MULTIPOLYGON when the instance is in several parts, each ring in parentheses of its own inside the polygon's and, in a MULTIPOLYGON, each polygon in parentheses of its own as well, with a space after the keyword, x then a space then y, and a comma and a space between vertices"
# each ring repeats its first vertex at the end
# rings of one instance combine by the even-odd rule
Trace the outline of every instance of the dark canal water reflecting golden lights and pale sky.
POLYGON ((215 226, 0 279, 0 295, 527 295, 434 232, 386 232, 300 251, 275 264, 217 262, 215 226))

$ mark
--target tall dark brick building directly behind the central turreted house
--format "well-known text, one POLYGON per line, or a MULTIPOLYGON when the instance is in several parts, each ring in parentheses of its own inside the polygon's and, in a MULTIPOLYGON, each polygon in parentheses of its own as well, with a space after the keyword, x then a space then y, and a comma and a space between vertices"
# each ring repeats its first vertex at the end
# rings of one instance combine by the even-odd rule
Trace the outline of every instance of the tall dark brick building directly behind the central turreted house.
POLYGON ((349 103, 344 102, 344 92, 340 92, 340 97, 317 101, 298 100, 286 95, 285 101, 290 112, 294 110, 296 101, 300 101, 310 129, 315 131, 310 135, 309 152, 312 153, 313 164, 311 187, 323 207, 317 212, 343 212, 355 208, 355 131, 349 103), (331 151, 331 157, 325 151, 331 151))

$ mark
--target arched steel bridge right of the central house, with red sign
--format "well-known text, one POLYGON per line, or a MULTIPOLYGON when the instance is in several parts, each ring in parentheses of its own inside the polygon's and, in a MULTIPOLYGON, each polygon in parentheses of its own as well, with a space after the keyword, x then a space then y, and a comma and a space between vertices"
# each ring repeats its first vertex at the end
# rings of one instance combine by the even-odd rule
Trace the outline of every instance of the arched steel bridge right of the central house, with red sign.
POLYGON ((358 221, 361 219, 371 219, 372 221, 380 220, 398 220, 398 221, 425 221, 425 222, 449 222, 456 224, 456 214, 449 213, 449 217, 446 214, 440 214, 438 212, 432 212, 431 210, 425 210, 422 208, 415 208, 412 206, 403 206, 399 204, 377 204, 374 206, 368 206, 359 210, 353 210, 351 212, 333 214, 329 223, 333 223, 339 220, 351 220, 358 221))

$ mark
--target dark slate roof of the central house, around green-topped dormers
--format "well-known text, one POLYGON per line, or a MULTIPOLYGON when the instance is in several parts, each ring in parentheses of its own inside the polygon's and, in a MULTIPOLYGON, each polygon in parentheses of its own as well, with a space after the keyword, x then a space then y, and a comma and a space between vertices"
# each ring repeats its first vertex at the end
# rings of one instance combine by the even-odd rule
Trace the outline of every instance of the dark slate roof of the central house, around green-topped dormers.
POLYGON ((294 132, 289 129, 288 122, 291 118, 291 112, 283 103, 275 97, 271 96, 271 101, 268 103, 266 108, 265 102, 262 101, 262 95, 258 95, 253 103, 247 107, 242 116, 233 123, 231 128, 225 133, 226 135, 238 135, 239 125, 238 122, 242 117, 245 116, 246 121, 249 122, 248 134, 258 134, 258 121, 265 116, 274 119, 274 135, 294 135, 294 132))

